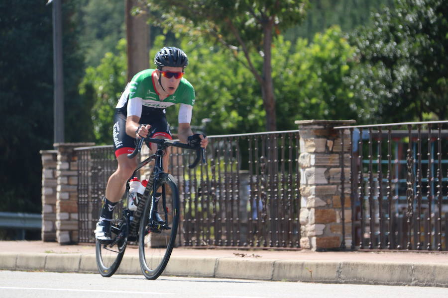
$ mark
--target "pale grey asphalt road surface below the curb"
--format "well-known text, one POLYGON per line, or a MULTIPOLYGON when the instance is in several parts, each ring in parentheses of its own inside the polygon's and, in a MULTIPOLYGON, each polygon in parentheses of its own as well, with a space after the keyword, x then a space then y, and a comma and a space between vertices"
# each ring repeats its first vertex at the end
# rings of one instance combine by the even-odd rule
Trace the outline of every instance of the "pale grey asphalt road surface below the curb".
POLYGON ((137 275, 114 275, 111 278, 103 278, 99 274, 0 271, 0 297, 422 298, 448 297, 448 289, 165 276, 149 281, 137 275))

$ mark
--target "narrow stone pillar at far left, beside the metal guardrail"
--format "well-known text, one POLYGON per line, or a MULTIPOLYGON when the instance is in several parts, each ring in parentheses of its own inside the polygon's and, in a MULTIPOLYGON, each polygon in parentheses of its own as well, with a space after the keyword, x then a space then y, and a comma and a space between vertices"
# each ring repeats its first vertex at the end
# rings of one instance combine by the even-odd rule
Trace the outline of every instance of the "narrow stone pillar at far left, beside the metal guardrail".
POLYGON ((42 241, 56 241, 56 150, 40 150, 42 157, 42 241))

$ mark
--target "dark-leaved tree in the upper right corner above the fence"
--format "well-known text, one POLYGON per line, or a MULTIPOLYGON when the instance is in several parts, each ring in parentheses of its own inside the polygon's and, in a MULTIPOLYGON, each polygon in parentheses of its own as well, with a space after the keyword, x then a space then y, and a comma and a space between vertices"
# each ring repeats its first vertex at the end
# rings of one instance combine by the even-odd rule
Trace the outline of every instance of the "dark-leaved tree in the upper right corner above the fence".
POLYGON ((447 15, 447 1, 396 0, 352 36, 361 64, 350 83, 373 107, 370 122, 446 118, 447 15))

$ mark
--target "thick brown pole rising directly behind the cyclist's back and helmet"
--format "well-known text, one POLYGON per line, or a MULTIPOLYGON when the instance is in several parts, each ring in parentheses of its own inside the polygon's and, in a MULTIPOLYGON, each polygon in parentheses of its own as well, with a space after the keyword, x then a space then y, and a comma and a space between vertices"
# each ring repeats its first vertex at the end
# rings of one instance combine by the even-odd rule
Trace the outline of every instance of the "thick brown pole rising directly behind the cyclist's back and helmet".
POLYGON ((138 72, 149 67, 149 25, 146 7, 139 0, 125 0, 125 22, 127 38, 127 81, 138 72), (132 16, 133 7, 141 12, 132 16))

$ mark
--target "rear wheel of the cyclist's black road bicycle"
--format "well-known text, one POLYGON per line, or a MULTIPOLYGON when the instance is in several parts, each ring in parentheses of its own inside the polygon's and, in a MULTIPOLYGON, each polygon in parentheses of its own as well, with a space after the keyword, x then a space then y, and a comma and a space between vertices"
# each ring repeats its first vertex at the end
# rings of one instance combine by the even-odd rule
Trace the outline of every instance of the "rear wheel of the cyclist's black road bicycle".
POLYGON ((124 232, 125 237, 116 241, 112 245, 111 243, 102 243, 99 240, 96 240, 95 253, 97 267, 103 277, 111 277, 116 272, 120 266, 121 260, 123 259, 124 250, 126 249, 127 232, 129 227, 126 217, 121 216, 121 218, 119 218, 119 213, 120 212, 118 210, 115 210, 112 216, 112 230, 116 230, 117 232, 111 232, 111 243, 113 243, 120 232, 124 232))

